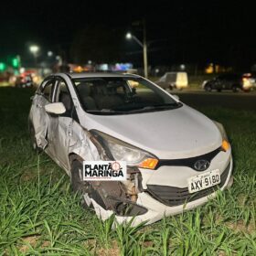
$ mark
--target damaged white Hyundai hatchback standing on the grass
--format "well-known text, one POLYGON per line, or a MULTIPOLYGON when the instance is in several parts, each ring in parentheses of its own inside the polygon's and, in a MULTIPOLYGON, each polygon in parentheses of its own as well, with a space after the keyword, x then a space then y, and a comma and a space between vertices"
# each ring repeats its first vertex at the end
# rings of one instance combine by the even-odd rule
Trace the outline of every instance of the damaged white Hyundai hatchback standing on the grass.
POLYGON ((223 126, 140 76, 49 76, 33 97, 29 130, 101 219, 153 223, 232 183, 223 126), (125 161, 127 178, 84 181, 83 161, 125 161))

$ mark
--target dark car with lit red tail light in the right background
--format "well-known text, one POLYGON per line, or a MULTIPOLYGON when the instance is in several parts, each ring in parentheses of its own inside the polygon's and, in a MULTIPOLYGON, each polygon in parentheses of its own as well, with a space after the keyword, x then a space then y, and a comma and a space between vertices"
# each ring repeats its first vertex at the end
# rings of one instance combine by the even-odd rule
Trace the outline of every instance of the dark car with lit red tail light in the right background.
POLYGON ((205 91, 231 90, 236 92, 239 90, 244 90, 242 76, 231 73, 219 75, 212 80, 205 80, 202 84, 202 88, 205 91))

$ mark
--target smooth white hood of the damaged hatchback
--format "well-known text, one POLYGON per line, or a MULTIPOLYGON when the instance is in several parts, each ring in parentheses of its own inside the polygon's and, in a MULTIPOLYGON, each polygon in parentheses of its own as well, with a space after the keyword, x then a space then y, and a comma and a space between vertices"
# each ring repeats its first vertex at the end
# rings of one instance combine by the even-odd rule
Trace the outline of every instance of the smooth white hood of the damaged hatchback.
POLYGON ((217 149, 222 140, 215 123, 187 105, 123 115, 85 113, 81 125, 133 144, 160 159, 204 155, 217 149))

